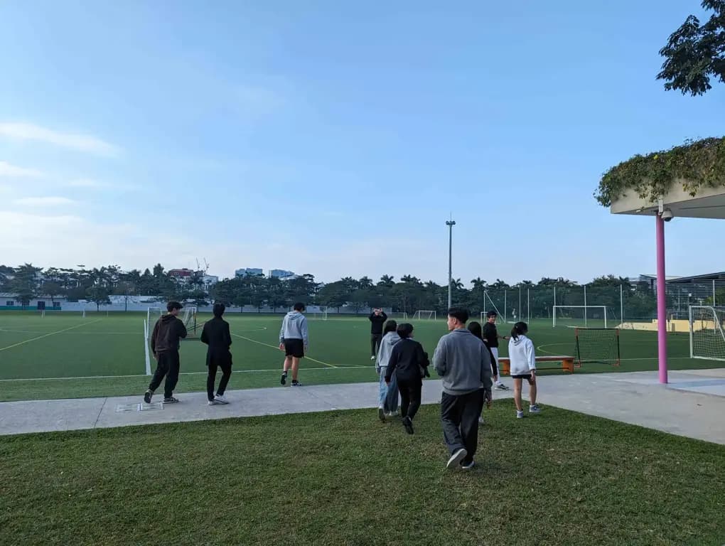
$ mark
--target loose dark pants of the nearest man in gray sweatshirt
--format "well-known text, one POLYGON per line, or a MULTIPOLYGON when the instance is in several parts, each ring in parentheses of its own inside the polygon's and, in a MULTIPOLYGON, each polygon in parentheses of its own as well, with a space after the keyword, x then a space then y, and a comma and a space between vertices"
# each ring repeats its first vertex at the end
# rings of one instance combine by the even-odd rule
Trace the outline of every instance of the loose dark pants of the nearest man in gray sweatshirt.
POLYGON ((453 396, 443 393, 441 399, 441 423, 443 438, 451 455, 465 447, 468 456, 463 463, 470 463, 479 444, 479 416, 484 404, 484 391, 479 389, 468 394, 453 396))

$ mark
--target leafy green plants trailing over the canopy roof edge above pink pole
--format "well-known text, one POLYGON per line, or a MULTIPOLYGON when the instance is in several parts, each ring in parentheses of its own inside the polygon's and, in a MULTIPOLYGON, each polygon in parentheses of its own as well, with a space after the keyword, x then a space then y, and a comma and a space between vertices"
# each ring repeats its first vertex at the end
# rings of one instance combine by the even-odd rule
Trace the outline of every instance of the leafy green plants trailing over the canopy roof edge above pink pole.
POLYGON ((628 191, 636 191, 642 199, 655 202, 678 178, 685 181, 682 189, 693 197, 702 187, 725 186, 725 137, 687 141, 662 152, 635 155, 602 176, 594 197, 602 207, 609 207, 628 191))

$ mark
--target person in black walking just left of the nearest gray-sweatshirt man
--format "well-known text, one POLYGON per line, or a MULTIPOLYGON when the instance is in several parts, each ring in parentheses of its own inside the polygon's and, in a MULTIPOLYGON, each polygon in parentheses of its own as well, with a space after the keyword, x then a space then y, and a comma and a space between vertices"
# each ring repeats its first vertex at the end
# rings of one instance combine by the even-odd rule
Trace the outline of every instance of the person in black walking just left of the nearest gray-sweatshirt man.
POLYGON ((395 374, 400 392, 403 426, 408 434, 413 434, 413 418, 421 407, 423 377, 430 377, 428 355, 423 351, 423 345, 413 340, 412 324, 400 324, 397 333, 400 341, 394 345, 390 354, 385 382, 389 384, 393 373, 395 374))

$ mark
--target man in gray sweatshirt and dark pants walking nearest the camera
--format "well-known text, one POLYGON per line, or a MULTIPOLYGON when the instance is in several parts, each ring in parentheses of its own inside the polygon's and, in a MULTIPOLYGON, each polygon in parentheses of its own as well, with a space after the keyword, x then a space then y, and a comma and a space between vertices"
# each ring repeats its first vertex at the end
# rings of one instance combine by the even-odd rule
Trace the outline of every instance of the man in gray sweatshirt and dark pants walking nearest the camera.
POLYGON ((465 328, 468 310, 448 310, 450 334, 438 342, 433 355, 436 372, 443 378, 441 421, 450 459, 447 468, 469 470, 479 442, 479 416, 490 401, 492 381, 489 350, 465 328))

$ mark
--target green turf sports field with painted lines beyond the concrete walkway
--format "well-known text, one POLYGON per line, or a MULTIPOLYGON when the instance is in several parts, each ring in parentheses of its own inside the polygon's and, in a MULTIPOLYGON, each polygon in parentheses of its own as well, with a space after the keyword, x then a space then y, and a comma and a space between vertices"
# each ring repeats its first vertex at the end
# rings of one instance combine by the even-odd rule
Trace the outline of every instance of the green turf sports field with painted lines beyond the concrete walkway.
MULTIPOLYGON (((144 376, 145 314, 0 313, 0 400, 32 400, 138 394, 144 376), (75 379, 85 378, 85 379, 75 379), (9 381, 12 380, 12 381, 9 381)), ((199 315, 199 323, 208 317, 199 315)), ((231 389, 275 386, 283 356, 277 349, 281 315, 227 315, 233 334, 231 389)), ((310 320, 310 352, 304 362, 307 383, 375 381, 370 362, 370 323, 366 318, 310 320)), ((510 326, 510 325, 508 325, 510 326)), ((505 326, 500 326, 504 333, 505 326)), ((444 320, 415 322, 415 337, 428 352, 446 333, 444 320)), ((573 354, 574 331, 532 320, 530 335, 539 355, 573 354)), ((716 363, 689 359, 686 335, 668 336, 672 369, 710 368, 716 363)), ((501 354, 507 354, 502 344, 501 354)), ((204 389, 205 346, 189 339, 181 347, 178 392, 204 389)), ((642 371, 657 367, 655 332, 622 331, 619 368, 585 365, 579 371, 642 371)), ((560 373, 560 372, 554 372, 560 373)))

